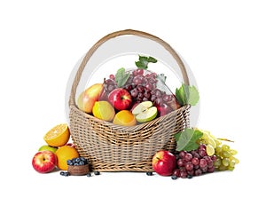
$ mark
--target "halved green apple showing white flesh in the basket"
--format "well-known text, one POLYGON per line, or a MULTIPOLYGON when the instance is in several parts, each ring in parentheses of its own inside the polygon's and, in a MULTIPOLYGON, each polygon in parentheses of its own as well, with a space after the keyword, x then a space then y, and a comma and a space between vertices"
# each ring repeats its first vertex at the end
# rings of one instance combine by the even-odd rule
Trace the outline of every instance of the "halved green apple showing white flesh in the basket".
POLYGON ((152 121, 158 114, 157 107, 153 107, 153 102, 145 101, 139 103, 133 110, 138 123, 145 123, 152 121))

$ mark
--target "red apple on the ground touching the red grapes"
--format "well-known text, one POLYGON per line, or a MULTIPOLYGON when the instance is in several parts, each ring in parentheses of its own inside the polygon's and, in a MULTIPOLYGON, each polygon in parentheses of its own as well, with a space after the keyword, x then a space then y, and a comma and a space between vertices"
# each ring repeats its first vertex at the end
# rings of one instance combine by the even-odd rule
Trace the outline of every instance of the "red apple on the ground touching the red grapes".
POLYGON ((161 176, 172 175, 176 168, 176 156, 169 151, 160 150, 153 155, 153 170, 161 176))

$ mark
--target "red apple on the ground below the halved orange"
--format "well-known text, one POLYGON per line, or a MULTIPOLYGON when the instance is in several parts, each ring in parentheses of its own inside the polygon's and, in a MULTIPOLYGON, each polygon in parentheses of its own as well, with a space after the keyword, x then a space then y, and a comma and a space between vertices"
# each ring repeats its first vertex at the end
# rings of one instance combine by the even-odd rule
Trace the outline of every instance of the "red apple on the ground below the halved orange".
POLYGON ((40 173, 51 172, 57 165, 57 156, 51 151, 40 151, 32 159, 33 168, 40 173))

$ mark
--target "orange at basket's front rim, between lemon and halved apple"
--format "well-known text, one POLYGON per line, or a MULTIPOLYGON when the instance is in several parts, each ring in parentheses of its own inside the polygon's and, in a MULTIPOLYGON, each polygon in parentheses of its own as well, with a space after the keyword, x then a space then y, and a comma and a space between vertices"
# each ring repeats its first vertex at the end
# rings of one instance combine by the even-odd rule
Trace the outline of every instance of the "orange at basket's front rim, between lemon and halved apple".
POLYGON ((137 124, 135 116, 129 110, 121 110, 113 117, 113 123, 122 126, 134 126, 137 124))

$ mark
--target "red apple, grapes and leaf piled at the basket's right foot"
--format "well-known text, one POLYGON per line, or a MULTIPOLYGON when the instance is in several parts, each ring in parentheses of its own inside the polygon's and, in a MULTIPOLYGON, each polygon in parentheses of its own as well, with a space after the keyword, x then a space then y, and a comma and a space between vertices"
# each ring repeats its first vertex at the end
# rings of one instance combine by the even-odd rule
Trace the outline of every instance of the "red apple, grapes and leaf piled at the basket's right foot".
POLYGON ((234 170, 235 164, 239 163, 233 156, 237 151, 222 145, 221 140, 208 131, 185 129, 176 133, 176 144, 175 154, 161 150, 153 155, 153 170, 159 175, 172 179, 192 178, 215 170, 234 170))

